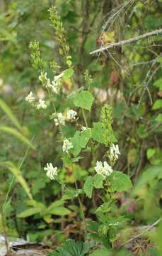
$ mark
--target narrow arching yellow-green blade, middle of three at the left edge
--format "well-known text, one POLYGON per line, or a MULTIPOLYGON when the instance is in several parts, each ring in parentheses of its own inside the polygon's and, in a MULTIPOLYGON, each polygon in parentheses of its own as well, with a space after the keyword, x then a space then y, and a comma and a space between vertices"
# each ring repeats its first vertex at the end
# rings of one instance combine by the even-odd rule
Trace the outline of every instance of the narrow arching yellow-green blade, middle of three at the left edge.
POLYGON ((0 131, 6 132, 8 134, 11 134, 17 137, 21 142, 23 142, 24 144, 27 144, 28 146, 30 146, 30 148, 35 149, 35 146, 30 142, 30 140, 24 137, 20 132, 16 131, 16 129, 13 129, 11 127, 1 126, 0 131))

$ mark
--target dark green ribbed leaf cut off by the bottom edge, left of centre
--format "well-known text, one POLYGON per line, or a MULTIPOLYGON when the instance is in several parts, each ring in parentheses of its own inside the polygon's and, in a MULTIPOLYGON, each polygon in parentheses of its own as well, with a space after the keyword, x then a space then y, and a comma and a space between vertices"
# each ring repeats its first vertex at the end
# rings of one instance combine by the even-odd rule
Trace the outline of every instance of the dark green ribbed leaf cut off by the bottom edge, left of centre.
POLYGON ((74 240, 66 240, 62 247, 57 247, 57 250, 51 251, 49 256, 84 256, 89 251, 88 242, 75 242, 74 240))

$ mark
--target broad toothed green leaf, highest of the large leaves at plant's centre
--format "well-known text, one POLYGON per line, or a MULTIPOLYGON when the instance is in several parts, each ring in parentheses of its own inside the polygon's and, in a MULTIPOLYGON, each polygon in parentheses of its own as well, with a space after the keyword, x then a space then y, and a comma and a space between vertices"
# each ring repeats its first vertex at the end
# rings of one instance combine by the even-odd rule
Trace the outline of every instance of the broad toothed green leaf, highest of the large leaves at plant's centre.
POLYGON ((94 97, 91 92, 86 90, 79 92, 78 95, 74 98, 74 105, 76 107, 82 107, 85 110, 91 110, 94 97))

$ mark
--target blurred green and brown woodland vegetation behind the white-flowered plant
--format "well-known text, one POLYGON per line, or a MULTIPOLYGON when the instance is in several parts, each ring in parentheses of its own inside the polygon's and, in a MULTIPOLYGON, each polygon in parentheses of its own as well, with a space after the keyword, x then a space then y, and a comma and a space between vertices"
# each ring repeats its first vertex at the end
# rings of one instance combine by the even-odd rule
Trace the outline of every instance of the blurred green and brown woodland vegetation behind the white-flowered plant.
MULTIPOLYGON (((43 241, 48 245, 60 245, 67 238, 83 240, 84 237, 78 201, 73 198, 63 207, 60 203, 64 196, 63 186, 57 181, 50 181, 43 170, 48 162, 62 168, 62 150, 57 143, 59 129, 43 111, 38 112, 25 102, 30 90, 37 98, 45 97, 45 90, 38 80, 39 73, 32 66, 30 41, 40 42, 40 51, 47 63, 55 61, 61 70, 67 68, 55 40, 54 28, 50 26, 48 9, 52 5, 57 6, 66 31, 74 64, 75 90, 88 87, 84 79, 85 70, 93 79, 91 92, 95 102, 91 114, 87 114, 88 127, 93 127, 93 122, 101 119, 101 109, 108 103, 112 107, 112 127, 121 153, 114 169, 129 175, 133 184, 127 192, 116 193, 113 218, 123 215, 127 222, 120 230, 113 230, 111 242, 114 247, 120 247, 137 234, 136 227, 145 227, 146 230, 160 220, 161 35, 105 50, 99 55, 90 55, 90 52, 102 44, 108 45, 161 28, 161 4, 161 0, 1 0, 1 233, 33 242, 43 241), (26 213, 25 210, 33 206, 33 198, 40 203, 36 209, 52 204, 59 210, 47 215, 41 215, 41 210, 26 213), (61 206, 63 208, 60 209, 61 206)), ((47 73, 52 77, 50 67, 47 73)), ((65 79, 62 87, 64 93, 57 102, 57 112, 73 107, 71 100, 66 100, 74 90, 71 80, 65 79)), ((47 111, 50 115, 51 111, 47 111)), ((81 114, 79 120, 84 125, 81 114)), ((73 124, 64 128, 66 137, 73 137, 74 132, 73 124)), ((99 141, 101 137, 99 134, 99 141)), ((96 160, 104 160, 105 153, 106 149, 101 144, 96 146, 94 154, 83 151, 83 159, 72 164, 77 172, 79 188, 83 188, 88 174, 93 173, 92 166, 96 160)), ((71 164, 67 164, 66 169, 62 168, 61 178, 73 188, 71 168, 71 164)), ((95 210, 101 203, 101 190, 93 192, 92 200, 81 195, 81 201, 86 219, 96 221, 95 210)), ((143 229, 139 233, 141 231, 143 229)), ((161 255, 161 231, 159 223, 158 228, 144 233, 144 238, 140 236, 140 241, 131 246, 131 251, 137 255, 161 255)))

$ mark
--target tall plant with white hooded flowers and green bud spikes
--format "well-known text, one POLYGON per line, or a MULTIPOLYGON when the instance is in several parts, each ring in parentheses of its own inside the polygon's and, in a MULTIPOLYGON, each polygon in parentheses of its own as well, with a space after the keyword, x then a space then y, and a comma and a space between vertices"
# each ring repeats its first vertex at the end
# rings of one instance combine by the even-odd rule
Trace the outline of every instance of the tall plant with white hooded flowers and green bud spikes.
MULTIPOLYGON (((90 127, 91 108, 95 103, 93 91, 91 90, 93 79, 86 70, 85 82, 88 86, 78 87, 75 84, 74 64, 69 54, 70 48, 66 42, 66 33, 55 7, 50 9, 50 20, 59 46, 59 53, 65 60, 67 67, 61 73, 58 73, 58 65, 54 62, 51 70, 49 70, 46 61, 41 57, 39 43, 37 41, 30 43, 33 66, 37 69, 38 80, 40 80, 42 88, 46 90, 47 94, 45 100, 40 99, 38 102, 33 96, 33 92, 30 92, 25 97, 25 100, 31 107, 47 114, 47 118, 52 120, 51 122, 59 131, 59 139, 57 139, 56 143, 62 147, 62 164, 61 166, 54 167, 54 161, 50 159, 50 164, 47 163, 44 170, 47 171, 46 175, 52 182, 55 180, 62 186, 60 204, 63 207, 60 208, 60 215, 69 214, 70 210, 67 201, 78 198, 85 238, 94 239, 93 233, 95 233, 96 241, 103 242, 105 247, 112 247, 115 233, 117 233, 118 228, 121 228, 122 223, 125 223, 124 217, 117 218, 113 215, 115 192, 127 191, 132 187, 129 177, 114 169, 120 156, 120 149, 112 129, 112 108, 110 105, 105 104, 101 110, 101 119, 98 122, 94 122, 93 126, 90 127), (51 73, 52 75, 49 75, 51 73), (72 87, 65 100, 64 82, 69 81, 71 81, 72 87), (66 107, 62 108, 62 112, 58 111, 60 98, 66 101, 66 105, 68 105, 68 100, 70 99, 68 109, 66 107), (64 132, 64 127, 67 125, 74 127, 74 133, 71 137, 67 137, 64 132), (105 150, 102 159, 98 159, 96 154, 100 146, 105 150), (78 183, 79 174, 76 170, 76 163, 78 163, 78 166, 81 166, 81 159, 86 158, 86 154, 90 154, 93 159, 88 167, 86 176, 83 178, 84 183, 81 186, 78 183), (62 173, 66 172, 69 168, 73 174, 71 186, 62 178, 62 173), (97 228, 94 230, 94 222, 86 219, 81 198, 86 195, 94 201, 95 190, 100 191, 102 203, 99 206, 94 203, 96 206, 94 213, 98 217, 98 222, 95 222, 97 228), (62 210, 63 213, 61 213, 62 210)), ((35 202, 36 205, 37 202, 35 202)), ((47 216, 56 213, 54 209, 52 210, 53 206, 54 204, 47 209, 43 208, 43 210, 40 210, 42 218, 47 223, 52 222, 52 218, 47 218, 47 216)))

